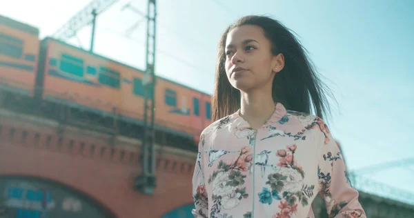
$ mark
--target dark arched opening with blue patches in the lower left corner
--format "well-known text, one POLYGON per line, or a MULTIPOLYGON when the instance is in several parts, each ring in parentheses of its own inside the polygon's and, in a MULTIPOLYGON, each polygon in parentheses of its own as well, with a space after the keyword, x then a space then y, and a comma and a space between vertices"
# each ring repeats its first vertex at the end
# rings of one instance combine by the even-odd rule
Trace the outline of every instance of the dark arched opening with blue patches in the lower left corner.
POLYGON ((32 178, 0 177, 1 218, 109 217, 75 190, 32 178))

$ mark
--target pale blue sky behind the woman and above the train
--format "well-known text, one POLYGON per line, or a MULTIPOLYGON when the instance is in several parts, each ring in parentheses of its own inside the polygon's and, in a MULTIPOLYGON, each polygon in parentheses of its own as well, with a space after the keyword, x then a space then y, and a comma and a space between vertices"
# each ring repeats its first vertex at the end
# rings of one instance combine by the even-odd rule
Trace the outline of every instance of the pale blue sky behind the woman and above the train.
MULTIPOLYGON (((87 2, 14 0, 0 14, 39 27, 45 37, 87 2)), ((146 0, 130 2, 146 11, 146 0)), ((127 39, 126 29, 142 17, 121 12, 126 3, 120 0, 98 18, 95 52, 144 69, 146 23, 127 39)), ((339 106, 327 121, 351 170, 414 157, 413 1, 157 0, 157 6, 157 75, 211 94, 217 41, 226 26, 246 14, 270 15, 299 35, 333 90, 339 106)), ((89 40, 86 27, 70 42, 88 49, 89 40)), ((414 193, 413 164, 365 177, 414 193)))

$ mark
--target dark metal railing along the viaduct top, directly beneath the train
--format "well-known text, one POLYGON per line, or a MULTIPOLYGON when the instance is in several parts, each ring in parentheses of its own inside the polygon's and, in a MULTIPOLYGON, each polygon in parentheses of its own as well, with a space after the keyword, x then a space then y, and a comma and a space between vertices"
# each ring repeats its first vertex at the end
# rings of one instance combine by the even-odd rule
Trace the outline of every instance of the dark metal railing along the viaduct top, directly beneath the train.
MULTIPOLYGON (((117 108, 113 103, 92 99, 70 92, 47 90, 17 81, 0 78, 0 107, 38 117, 54 119, 61 126, 75 125, 112 135, 125 135, 141 139, 143 117, 139 112, 117 108), (27 90, 27 92, 17 92, 27 90), (24 94, 23 94, 24 93, 24 94), (43 93, 34 97, 34 93, 43 93), (43 96, 47 96, 43 98, 43 96)), ((186 150, 197 149, 191 135, 199 135, 195 129, 182 123, 155 118, 156 135, 166 134, 165 143, 186 150), (181 133, 180 133, 181 132, 181 133)), ((156 137, 156 141, 161 137, 156 137)), ((161 141, 158 141, 161 142, 161 141)))

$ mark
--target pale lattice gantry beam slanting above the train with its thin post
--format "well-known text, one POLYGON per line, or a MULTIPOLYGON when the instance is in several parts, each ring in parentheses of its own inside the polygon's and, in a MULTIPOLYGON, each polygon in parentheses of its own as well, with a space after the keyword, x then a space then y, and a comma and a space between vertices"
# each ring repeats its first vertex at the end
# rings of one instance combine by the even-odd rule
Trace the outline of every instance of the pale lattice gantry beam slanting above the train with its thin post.
POLYGON ((118 0, 94 0, 82 8, 77 14, 69 19, 59 30, 53 34, 55 39, 66 41, 74 37, 79 30, 92 23, 92 37, 90 39, 90 51, 93 49, 95 40, 95 21, 98 14, 101 14, 118 0))

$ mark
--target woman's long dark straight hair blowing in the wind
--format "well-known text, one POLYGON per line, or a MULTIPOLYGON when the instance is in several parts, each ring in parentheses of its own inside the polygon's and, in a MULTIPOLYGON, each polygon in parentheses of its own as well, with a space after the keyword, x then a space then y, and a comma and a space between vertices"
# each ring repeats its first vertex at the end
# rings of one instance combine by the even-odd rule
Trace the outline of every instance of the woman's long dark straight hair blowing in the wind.
POLYGON ((225 46, 228 32, 237 26, 255 25, 264 30, 270 40, 273 54, 284 54, 284 68, 273 79, 272 96, 275 102, 282 103, 287 110, 311 113, 313 109, 318 117, 330 112, 325 92, 328 90, 317 77, 312 61, 305 48, 296 37, 279 21, 262 16, 242 17, 229 26, 221 36, 217 54, 215 88, 212 101, 213 121, 236 112, 240 107, 240 91, 228 81, 224 63, 225 46))

